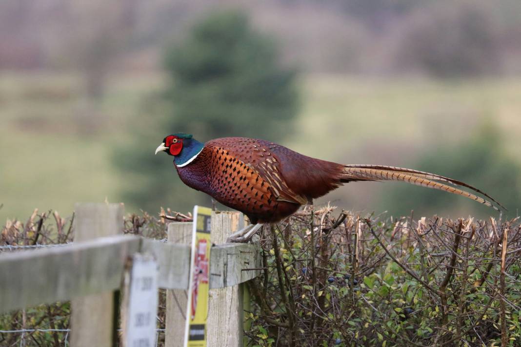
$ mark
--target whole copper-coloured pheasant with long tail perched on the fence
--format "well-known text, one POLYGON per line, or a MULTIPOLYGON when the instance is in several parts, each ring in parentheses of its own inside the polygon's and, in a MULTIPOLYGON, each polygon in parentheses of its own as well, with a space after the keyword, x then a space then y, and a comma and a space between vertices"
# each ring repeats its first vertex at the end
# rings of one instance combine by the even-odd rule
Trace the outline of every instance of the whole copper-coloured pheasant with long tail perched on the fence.
MULTIPOLYGON (((155 153, 160 151, 174 157, 184 184, 243 212, 252 224, 276 223, 301 205, 344 183, 358 181, 403 181, 462 195, 499 210, 492 202, 457 188, 465 187, 502 207, 485 192, 452 178, 395 166, 338 164, 260 139, 224 137, 203 144, 192 135, 177 133, 163 139, 155 153)), ((246 231, 247 236, 252 234, 252 230, 246 231)), ((234 240, 244 240, 244 234, 234 240)))

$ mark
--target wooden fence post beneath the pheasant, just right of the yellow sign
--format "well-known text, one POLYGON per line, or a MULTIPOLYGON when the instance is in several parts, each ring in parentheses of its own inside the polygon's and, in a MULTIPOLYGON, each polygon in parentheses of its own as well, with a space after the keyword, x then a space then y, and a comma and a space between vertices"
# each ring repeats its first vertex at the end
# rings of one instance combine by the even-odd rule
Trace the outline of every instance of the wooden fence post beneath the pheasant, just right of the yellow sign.
MULTIPOLYGON (((225 243, 228 236, 242 228, 244 216, 239 212, 212 213, 212 243, 225 243)), ((210 264, 210 266, 212 266, 210 264)), ((211 276, 211 275, 210 275, 211 276)), ((207 345, 239 347, 243 345, 243 284, 210 289, 208 301, 207 345)))

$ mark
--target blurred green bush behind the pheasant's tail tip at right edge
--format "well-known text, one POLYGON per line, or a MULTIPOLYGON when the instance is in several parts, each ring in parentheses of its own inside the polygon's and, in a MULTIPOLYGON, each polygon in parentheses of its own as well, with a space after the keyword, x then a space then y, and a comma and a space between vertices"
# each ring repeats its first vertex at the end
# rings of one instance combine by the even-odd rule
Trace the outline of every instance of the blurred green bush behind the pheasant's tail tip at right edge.
MULTIPOLYGON (((462 143, 421 155, 414 165, 408 167, 439 173, 481 189, 501 202, 508 209, 508 216, 515 216, 521 207, 521 168, 505 154, 501 133, 491 123, 482 124, 462 143)), ((382 196, 380 209, 395 216, 408 215, 411 210, 416 216, 449 214, 460 217, 472 213, 486 217, 497 214, 469 199, 411 185, 396 185, 382 196)))

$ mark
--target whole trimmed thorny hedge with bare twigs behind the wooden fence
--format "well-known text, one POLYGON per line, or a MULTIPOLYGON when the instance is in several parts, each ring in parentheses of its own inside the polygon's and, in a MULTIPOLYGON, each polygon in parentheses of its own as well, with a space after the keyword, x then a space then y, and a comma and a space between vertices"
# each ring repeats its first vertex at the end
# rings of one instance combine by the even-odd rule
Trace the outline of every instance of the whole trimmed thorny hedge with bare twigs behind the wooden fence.
MULTIPOLYGON (((250 346, 490 346, 521 341, 521 226, 510 221, 393 219, 306 207, 264 228, 262 275, 249 282, 250 346)), ((164 239, 167 218, 125 217, 125 232, 164 239)), ((8 221, 0 246, 71 242, 73 216, 8 221)), ((2 248, 0 251, 8 251, 2 248)), ((164 327, 165 295, 159 295, 164 327)), ((0 329, 68 329, 69 303, 0 315, 0 329)), ((20 345, 21 333, 0 333, 20 345)), ((26 332, 61 346, 67 332, 26 332)), ((163 345, 163 333, 159 344, 163 345)))

